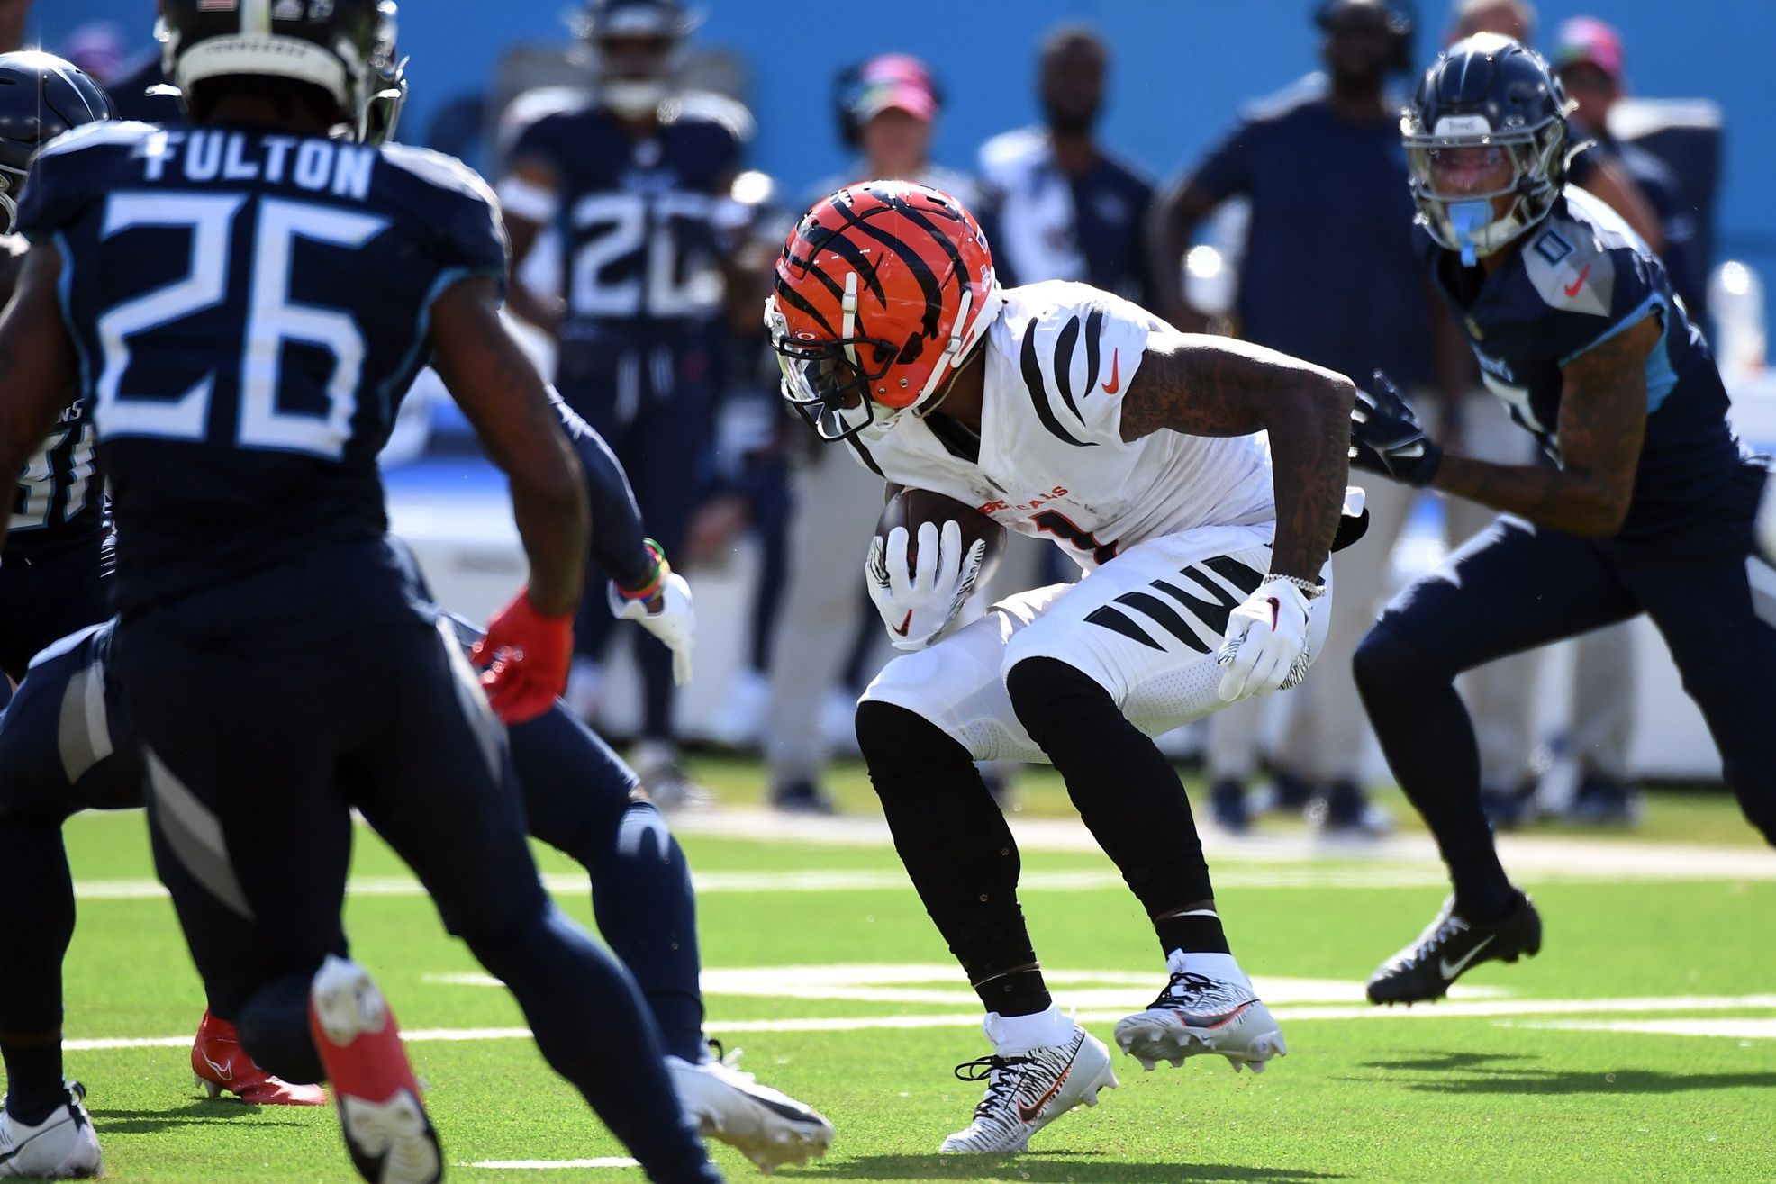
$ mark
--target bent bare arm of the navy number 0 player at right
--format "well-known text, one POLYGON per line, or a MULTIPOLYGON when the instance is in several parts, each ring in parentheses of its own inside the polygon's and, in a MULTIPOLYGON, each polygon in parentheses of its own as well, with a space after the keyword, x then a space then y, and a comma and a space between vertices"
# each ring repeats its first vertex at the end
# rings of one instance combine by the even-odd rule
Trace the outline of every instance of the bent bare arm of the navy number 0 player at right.
POLYGON ((1446 454, 1431 485, 1554 531, 1614 534, 1634 497, 1646 438, 1646 355, 1661 332, 1659 318, 1648 316, 1561 369, 1559 469, 1446 454))

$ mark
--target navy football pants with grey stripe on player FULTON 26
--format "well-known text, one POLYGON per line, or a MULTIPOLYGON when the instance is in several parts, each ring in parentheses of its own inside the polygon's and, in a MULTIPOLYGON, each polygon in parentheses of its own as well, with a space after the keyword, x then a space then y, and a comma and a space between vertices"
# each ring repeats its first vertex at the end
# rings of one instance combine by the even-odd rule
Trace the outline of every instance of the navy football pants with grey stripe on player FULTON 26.
POLYGON ((634 982, 538 882, 504 738, 448 625, 265 653, 194 643, 151 614, 119 625, 114 664, 147 767, 156 870, 256 1062, 320 1076, 298 1021, 321 959, 346 953, 357 808, 648 1177, 719 1179, 634 982))

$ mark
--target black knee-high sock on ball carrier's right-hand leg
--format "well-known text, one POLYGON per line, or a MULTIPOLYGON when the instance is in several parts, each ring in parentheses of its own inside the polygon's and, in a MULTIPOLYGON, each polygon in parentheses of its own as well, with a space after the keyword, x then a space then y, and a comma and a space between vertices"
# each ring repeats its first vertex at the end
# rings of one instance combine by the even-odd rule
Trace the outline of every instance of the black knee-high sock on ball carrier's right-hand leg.
POLYGON ((1108 691, 1057 659, 1018 662, 1005 689, 1092 838, 1146 905, 1160 946, 1227 953, 1190 799, 1153 738, 1128 722, 1108 691))

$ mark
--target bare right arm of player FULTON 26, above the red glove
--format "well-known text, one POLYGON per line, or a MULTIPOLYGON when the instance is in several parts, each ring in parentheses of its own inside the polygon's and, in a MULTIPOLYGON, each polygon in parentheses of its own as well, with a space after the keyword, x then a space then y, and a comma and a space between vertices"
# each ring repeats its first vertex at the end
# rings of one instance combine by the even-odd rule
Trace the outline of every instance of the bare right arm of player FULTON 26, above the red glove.
POLYGON ((460 280, 432 304, 432 348, 444 385, 511 485, 531 602, 545 616, 572 612, 590 538, 586 476, 542 375, 499 323, 494 280, 460 280))

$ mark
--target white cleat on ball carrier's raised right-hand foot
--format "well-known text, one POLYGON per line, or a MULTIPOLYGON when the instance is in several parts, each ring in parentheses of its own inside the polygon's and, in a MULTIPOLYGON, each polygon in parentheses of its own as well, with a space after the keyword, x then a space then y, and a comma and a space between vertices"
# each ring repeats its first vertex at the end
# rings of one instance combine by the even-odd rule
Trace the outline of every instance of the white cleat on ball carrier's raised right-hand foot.
POLYGON ((1213 1053, 1225 1056, 1234 1072, 1265 1072, 1272 1056, 1288 1054, 1277 1021, 1245 975, 1209 976, 1186 966, 1186 955, 1174 950, 1165 960, 1172 980, 1160 998, 1115 1026, 1117 1046, 1142 1069, 1160 1062, 1181 1067, 1186 1056, 1213 1053))

